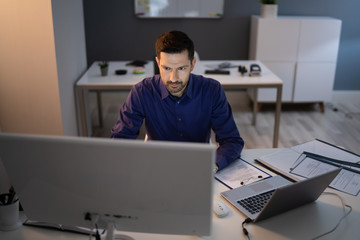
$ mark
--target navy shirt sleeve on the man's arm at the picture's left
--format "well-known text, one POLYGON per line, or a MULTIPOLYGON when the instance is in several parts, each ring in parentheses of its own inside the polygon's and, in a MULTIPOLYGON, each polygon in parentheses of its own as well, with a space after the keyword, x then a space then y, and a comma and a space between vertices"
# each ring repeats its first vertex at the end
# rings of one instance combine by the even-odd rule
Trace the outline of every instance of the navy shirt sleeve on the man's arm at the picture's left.
POLYGON ((136 139, 144 120, 141 87, 135 85, 120 108, 119 118, 111 129, 111 138, 136 139))

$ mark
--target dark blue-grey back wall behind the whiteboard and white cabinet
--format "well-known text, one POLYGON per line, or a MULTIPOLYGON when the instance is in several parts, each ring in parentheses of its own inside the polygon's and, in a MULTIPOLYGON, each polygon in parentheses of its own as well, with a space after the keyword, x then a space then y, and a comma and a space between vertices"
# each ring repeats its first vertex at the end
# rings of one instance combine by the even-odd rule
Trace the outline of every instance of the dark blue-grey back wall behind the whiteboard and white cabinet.
MULTIPOLYGON (((247 59, 250 16, 258 0, 225 0, 221 19, 139 19, 133 0, 84 0, 88 65, 96 60, 151 59, 154 41, 169 30, 186 32, 201 59, 247 59)), ((360 90, 360 9, 358 0, 278 0, 279 15, 341 19, 335 90, 360 90)))

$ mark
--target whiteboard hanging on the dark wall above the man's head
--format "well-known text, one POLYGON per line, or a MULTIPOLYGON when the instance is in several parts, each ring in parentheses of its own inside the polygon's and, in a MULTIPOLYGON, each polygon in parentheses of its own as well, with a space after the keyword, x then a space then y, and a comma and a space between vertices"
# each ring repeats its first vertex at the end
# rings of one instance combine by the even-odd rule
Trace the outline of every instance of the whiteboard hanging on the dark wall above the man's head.
POLYGON ((134 0, 139 18, 221 18, 224 0, 134 0))

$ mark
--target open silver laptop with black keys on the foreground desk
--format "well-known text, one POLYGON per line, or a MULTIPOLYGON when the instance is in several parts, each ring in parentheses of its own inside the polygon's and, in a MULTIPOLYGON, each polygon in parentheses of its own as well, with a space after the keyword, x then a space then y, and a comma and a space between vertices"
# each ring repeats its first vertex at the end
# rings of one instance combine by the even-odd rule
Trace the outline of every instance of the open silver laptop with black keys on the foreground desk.
POLYGON ((318 199, 341 169, 292 183, 274 176, 221 193, 253 222, 278 215, 318 199))

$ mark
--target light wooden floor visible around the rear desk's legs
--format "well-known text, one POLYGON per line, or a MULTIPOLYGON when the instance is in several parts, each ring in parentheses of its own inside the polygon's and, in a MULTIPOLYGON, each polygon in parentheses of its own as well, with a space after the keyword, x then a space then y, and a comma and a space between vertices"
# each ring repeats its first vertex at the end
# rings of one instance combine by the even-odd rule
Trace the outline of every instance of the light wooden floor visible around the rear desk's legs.
MULTIPOLYGON (((253 126, 251 101, 246 91, 229 91, 226 95, 245 141, 245 149, 271 148, 275 105, 263 105, 257 115, 257 124, 253 126)), ((96 95, 90 93, 94 137, 110 136, 126 96, 124 92, 102 92, 103 127, 99 128, 96 95)), ((142 129, 139 138, 144 134, 142 129)), ((325 103, 324 113, 316 104, 283 105, 278 147, 291 147, 315 138, 360 154, 360 102, 325 103)))

